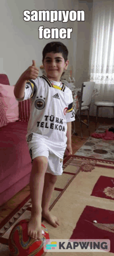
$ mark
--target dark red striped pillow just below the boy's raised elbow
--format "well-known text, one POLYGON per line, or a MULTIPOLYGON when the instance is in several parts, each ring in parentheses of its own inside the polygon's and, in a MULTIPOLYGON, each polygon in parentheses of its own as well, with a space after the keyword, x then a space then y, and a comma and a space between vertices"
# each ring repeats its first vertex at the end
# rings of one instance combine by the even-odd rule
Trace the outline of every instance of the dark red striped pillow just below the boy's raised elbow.
POLYGON ((20 120, 27 122, 30 118, 31 112, 31 103, 30 99, 25 99, 23 101, 19 101, 19 116, 20 120))

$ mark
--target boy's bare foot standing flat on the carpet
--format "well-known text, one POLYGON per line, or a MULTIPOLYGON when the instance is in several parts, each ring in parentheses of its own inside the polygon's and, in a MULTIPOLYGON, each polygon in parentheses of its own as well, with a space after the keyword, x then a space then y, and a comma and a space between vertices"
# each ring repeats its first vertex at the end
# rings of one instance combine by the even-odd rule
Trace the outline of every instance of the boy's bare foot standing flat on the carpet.
POLYGON ((49 210, 47 212, 42 210, 42 217, 44 217, 53 227, 58 227, 60 225, 58 218, 52 215, 49 210))

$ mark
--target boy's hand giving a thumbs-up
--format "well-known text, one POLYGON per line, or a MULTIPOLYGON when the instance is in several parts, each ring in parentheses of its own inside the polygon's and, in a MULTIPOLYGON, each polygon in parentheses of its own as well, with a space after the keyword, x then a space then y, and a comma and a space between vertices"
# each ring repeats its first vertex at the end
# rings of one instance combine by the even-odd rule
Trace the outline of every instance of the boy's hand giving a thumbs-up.
POLYGON ((39 69, 36 67, 36 62, 33 60, 33 65, 24 71, 22 74, 24 80, 36 79, 38 77, 39 69))

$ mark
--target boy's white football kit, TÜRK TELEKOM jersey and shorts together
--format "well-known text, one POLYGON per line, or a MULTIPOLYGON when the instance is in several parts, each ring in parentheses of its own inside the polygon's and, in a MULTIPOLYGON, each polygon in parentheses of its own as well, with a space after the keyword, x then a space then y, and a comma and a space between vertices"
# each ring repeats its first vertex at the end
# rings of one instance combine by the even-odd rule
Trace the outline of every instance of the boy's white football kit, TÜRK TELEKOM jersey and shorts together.
POLYGON ((62 82, 50 82, 43 75, 27 81, 22 100, 29 98, 31 114, 26 141, 31 158, 33 160, 38 156, 46 156, 47 172, 61 175, 67 142, 67 122, 75 121, 72 91, 62 82))

